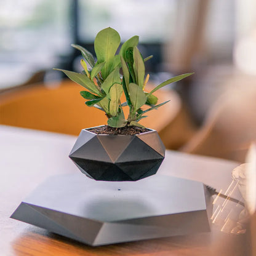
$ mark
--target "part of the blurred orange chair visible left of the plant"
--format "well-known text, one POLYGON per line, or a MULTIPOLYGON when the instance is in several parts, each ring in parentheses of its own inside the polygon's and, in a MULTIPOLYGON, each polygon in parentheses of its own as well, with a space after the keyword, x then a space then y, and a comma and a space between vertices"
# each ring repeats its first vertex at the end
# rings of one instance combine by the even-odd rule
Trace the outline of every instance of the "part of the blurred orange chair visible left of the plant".
POLYGON ((100 110, 84 106, 81 90, 70 81, 9 90, 0 96, 0 124, 76 135, 83 128, 105 124, 100 110))

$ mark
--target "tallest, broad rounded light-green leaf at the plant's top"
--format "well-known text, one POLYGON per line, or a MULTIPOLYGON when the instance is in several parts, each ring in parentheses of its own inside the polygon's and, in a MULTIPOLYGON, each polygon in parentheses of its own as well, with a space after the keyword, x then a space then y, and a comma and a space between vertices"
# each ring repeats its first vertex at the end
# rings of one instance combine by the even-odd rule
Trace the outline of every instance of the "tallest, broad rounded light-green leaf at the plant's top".
POLYGON ((95 54, 98 63, 106 62, 102 68, 102 77, 105 79, 111 71, 114 62, 114 54, 120 44, 120 36, 113 28, 105 28, 100 31, 94 41, 95 54))

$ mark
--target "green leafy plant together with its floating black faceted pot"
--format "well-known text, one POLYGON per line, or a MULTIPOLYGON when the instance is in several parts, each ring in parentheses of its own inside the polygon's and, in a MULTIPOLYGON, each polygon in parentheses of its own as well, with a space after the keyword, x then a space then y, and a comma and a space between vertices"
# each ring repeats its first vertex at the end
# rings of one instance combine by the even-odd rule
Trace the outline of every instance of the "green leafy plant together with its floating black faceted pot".
POLYGON ((86 105, 105 112, 108 118, 107 126, 82 129, 70 153, 76 166, 95 180, 134 181, 156 174, 165 148, 156 130, 143 127, 139 121, 148 111, 168 102, 158 103, 156 90, 192 74, 175 76, 146 92, 149 74, 145 77, 144 63, 152 56, 142 57, 138 36, 124 42, 117 54, 120 42, 116 30, 105 28, 94 41, 97 62, 84 47, 72 45, 84 57, 82 73, 55 69, 84 87, 80 94, 86 105), (126 102, 121 102, 123 93, 126 102), (127 117, 125 107, 129 108, 127 117))

